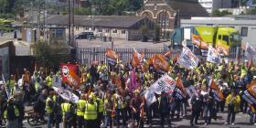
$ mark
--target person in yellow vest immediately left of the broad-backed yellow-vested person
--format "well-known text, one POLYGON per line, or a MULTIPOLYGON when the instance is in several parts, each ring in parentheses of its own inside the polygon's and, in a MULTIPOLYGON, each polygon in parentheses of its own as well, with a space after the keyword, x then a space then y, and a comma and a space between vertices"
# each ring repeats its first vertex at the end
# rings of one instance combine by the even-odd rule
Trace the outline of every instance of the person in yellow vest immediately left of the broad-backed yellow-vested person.
POLYGON ((84 115, 84 109, 85 109, 85 103, 87 95, 86 94, 81 94, 80 95, 80 100, 77 103, 77 121, 78 121, 78 126, 79 128, 82 127, 84 123, 83 115, 84 115))

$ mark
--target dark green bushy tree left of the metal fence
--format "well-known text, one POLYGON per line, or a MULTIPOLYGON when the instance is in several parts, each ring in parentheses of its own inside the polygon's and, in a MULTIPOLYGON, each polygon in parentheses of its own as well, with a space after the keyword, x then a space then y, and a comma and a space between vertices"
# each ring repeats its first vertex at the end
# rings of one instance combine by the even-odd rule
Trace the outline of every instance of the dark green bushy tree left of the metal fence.
POLYGON ((35 45, 35 55, 38 66, 48 69, 58 69, 59 62, 67 62, 70 59, 69 47, 64 43, 48 44, 40 42, 35 45))

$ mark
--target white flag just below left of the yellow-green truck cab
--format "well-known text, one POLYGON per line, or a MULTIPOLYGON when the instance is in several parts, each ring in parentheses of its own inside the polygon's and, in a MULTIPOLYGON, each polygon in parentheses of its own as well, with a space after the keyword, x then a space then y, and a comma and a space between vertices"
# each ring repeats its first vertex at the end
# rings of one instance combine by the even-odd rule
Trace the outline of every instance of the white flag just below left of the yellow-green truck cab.
POLYGON ((219 64, 220 63, 220 57, 219 57, 218 50, 209 46, 208 47, 208 59, 207 60, 211 63, 219 64))

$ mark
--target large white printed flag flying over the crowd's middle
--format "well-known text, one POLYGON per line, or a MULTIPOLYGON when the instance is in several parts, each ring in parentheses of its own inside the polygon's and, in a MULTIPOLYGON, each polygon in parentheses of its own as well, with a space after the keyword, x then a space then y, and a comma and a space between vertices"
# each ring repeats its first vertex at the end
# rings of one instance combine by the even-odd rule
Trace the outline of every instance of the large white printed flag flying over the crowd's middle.
POLYGON ((150 88, 157 94, 161 94, 162 91, 172 93, 176 88, 176 80, 165 74, 162 78, 156 80, 150 88))

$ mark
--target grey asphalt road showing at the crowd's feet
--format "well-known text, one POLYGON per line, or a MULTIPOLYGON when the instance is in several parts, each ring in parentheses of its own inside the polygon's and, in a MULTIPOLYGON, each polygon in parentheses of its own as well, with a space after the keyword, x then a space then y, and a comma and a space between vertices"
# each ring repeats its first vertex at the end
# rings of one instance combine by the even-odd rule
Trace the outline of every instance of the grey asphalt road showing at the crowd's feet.
MULTIPOLYGON (((189 114, 188 114, 189 115, 189 114)), ((217 121, 212 120, 211 124, 208 124, 207 126, 204 125, 204 120, 199 120, 198 121, 198 125, 193 126, 194 128, 255 128, 256 125, 251 125, 249 124, 249 120, 250 117, 248 114, 243 114, 243 113, 238 113, 236 116, 236 121, 235 121, 235 125, 224 125, 225 121, 226 121, 226 116, 227 113, 218 113, 218 117, 219 119, 217 121)), ((25 120, 24 122, 24 127, 32 127, 29 126, 27 123, 27 120, 25 120)), ((160 119, 153 119, 152 122, 152 128, 160 128, 160 119)), ((62 127, 62 123, 60 124, 60 127, 62 127)), ((34 126, 35 128, 45 128, 47 127, 46 123, 45 124, 39 124, 37 126, 34 126)), ((144 125, 145 128, 148 128, 148 125, 144 125)), ((165 128, 167 128, 167 123, 165 124, 165 128)), ((190 126, 189 124, 189 116, 187 116, 184 119, 180 119, 180 120, 176 120, 173 119, 172 120, 172 127, 176 127, 176 128, 193 128, 190 126)))

